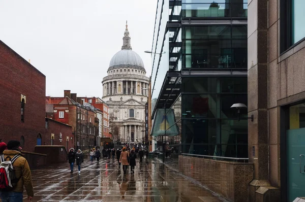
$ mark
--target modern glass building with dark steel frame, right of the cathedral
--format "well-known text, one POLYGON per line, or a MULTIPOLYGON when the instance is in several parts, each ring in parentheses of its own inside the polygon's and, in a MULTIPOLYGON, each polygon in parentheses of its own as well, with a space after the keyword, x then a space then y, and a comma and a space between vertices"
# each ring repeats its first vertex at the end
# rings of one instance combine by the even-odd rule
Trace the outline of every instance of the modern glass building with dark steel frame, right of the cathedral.
MULTIPOLYGON (((171 157, 248 157, 246 0, 158 1, 151 136, 171 157)), ((164 151, 165 152, 165 151, 164 151)), ((166 152, 165 152, 166 153, 166 152)))

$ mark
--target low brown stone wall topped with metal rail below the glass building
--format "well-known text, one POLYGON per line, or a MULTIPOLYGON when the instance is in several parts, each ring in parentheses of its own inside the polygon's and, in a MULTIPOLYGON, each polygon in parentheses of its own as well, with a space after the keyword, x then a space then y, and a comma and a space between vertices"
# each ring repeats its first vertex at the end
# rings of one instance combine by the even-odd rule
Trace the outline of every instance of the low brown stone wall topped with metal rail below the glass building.
POLYGON ((179 172, 230 201, 248 201, 252 163, 179 156, 179 172))

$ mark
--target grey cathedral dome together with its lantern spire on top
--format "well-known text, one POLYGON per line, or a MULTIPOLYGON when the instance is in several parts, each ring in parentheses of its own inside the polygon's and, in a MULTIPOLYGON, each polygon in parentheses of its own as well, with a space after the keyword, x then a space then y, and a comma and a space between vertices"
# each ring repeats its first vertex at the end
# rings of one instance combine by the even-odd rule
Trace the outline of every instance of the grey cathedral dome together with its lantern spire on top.
POLYGON ((141 57, 131 48, 127 21, 123 37, 123 46, 121 50, 115 53, 111 58, 108 71, 119 66, 133 66, 145 71, 141 57))

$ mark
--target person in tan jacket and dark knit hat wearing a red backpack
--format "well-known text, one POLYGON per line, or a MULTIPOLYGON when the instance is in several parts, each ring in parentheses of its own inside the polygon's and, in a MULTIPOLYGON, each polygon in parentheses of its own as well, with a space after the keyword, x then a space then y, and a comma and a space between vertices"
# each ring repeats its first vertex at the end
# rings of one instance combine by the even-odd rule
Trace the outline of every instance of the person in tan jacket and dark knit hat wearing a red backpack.
MULTIPOLYGON (((28 200, 32 200, 34 196, 31 170, 29 169, 27 160, 21 151, 20 142, 11 140, 7 144, 7 150, 3 152, 4 160, 17 157, 13 163, 16 179, 16 185, 13 186, 12 191, 0 191, 2 201, 23 201, 23 186, 25 187, 28 200)), ((1 160, 2 162, 2 160, 1 160)))

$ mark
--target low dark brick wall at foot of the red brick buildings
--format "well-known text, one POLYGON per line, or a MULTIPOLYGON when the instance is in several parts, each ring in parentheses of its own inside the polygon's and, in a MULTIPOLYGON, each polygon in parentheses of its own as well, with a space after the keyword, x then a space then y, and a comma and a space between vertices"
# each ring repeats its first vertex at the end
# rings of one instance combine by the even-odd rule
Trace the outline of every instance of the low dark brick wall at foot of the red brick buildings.
POLYGON ((35 146, 35 152, 47 155, 46 164, 67 162, 68 153, 64 146, 39 145, 35 146))

